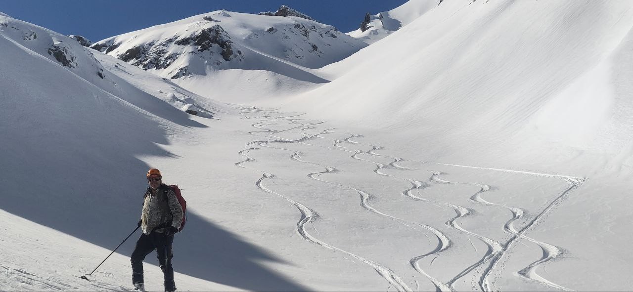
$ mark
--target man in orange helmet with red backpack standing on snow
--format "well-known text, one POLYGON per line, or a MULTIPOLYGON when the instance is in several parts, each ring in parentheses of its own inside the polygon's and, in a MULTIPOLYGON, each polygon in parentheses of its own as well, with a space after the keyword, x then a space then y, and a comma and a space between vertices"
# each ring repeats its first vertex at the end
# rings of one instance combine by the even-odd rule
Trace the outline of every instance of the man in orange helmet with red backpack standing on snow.
POLYGON ((182 222, 182 207, 175 193, 164 183, 158 169, 147 171, 149 188, 144 195, 141 212, 141 238, 136 242, 130 257, 132 262, 132 284, 134 290, 145 291, 143 281, 143 260, 156 250, 158 263, 165 277, 165 291, 175 291, 172 267, 173 234, 177 233, 182 222))

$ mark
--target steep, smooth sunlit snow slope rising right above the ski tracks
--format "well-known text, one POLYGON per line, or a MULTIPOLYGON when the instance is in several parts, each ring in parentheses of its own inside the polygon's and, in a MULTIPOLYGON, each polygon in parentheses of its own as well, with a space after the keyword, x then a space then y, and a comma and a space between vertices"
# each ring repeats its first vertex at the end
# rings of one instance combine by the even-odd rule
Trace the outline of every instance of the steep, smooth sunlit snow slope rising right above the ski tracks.
POLYGON ((618 126, 631 104, 617 64, 630 58, 632 12, 627 1, 442 2, 389 42, 328 66, 340 78, 289 103, 433 141, 429 157, 466 158, 456 151, 465 145, 480 158, 559 171, 580 163, 596 169, 578 175, 594 174, 593 160, 563 162, 591 152, 610 167, 627 164, 612 155, 628 157, 627 135, 612 133, 629 131, 618 126), (390 47, 397 56, 384 56, 390 47))

